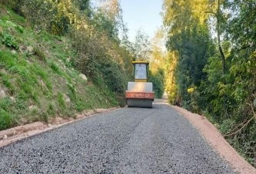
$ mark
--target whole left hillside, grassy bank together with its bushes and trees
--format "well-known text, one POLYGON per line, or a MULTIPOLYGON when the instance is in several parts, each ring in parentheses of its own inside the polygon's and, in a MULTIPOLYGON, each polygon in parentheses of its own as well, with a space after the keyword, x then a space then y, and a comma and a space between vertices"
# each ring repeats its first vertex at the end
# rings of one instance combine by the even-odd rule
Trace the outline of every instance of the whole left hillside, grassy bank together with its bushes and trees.
POLYGON ((80 2, 0 1, 0 130, 125 106, 119 18, 80 2))

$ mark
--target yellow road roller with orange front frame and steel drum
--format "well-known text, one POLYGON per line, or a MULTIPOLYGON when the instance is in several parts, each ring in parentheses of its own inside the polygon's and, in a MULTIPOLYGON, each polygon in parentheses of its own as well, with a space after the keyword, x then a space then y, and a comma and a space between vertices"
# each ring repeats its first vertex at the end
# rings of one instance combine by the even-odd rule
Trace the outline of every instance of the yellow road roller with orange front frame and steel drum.
POLYGON ((152 107, 154 101, 153 84, 148 82, 149 62, 132 61, 132 77, 135 81, 128 82, 128 89, 125 92, 128 107, 152 107))

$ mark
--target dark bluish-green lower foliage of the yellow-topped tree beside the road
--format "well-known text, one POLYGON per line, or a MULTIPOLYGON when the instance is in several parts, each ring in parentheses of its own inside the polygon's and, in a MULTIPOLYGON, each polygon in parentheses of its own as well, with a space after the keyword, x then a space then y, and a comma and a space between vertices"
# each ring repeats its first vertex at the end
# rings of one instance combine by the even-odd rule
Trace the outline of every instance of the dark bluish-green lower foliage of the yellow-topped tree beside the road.
POLYGON ((205 80, 206 74, 202 70, 207 64, 208 55, 214 52, 208 34, 204 27, 194 25, 193 28, 175 34, 168 41, 168 49, 178 51, 175 80, 179 99, 176 100, 180 100, 181 106, 188 109, 192 108, 191 94, 188 93, 188 89, 199 87, 201 81, 205 80))

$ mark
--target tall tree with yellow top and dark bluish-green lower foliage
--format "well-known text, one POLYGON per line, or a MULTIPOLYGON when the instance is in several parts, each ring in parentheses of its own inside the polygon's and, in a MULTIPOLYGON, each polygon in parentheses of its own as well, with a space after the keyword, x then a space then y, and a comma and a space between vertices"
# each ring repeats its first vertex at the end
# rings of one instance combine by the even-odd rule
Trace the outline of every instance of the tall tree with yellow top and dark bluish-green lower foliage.
POLYGON ((207 15, 201 1, 164 1, 164 25, 168 28, 168 51, 176 53, 177 67, 175 79, 181 104, 188 105, 191 100, 190 89, 200 86, 206 78, 202 72, 207 64, 208 55, 212 54, 212 41, 207 26, 207 15), (201 5, 196 5, 201 2, 201 5), (204 14, 204 15, 203 15, 204 14))

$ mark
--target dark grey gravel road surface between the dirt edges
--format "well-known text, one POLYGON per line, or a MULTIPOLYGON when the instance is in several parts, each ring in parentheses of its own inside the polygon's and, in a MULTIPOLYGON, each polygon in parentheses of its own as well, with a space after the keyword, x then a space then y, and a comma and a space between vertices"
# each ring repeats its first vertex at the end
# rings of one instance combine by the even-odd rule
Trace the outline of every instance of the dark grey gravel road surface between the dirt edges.
POLYGON ((98 114, 0 148, 0 173, 234 173, 164 103, 98 114))

